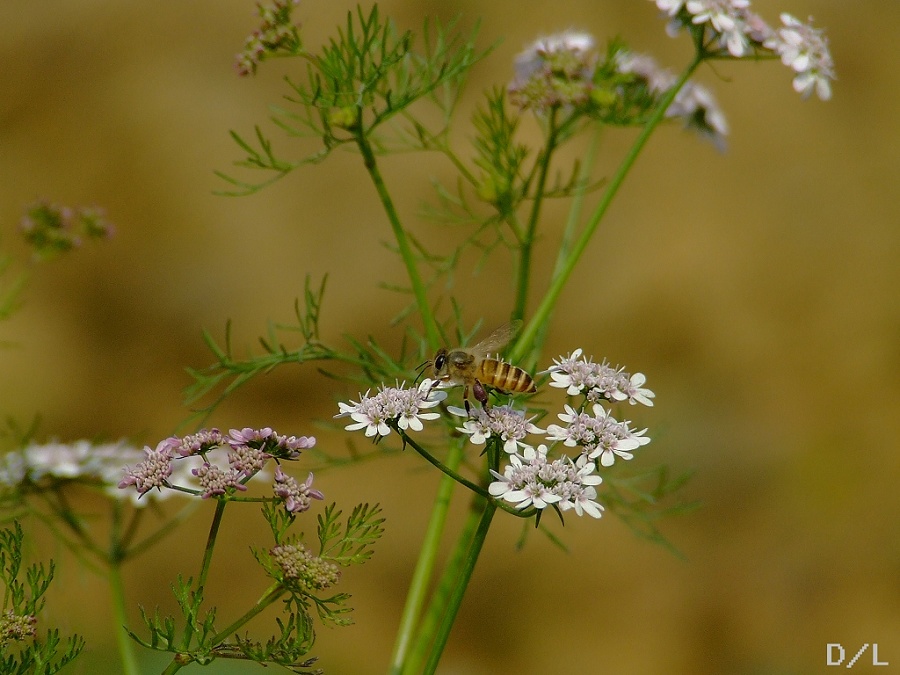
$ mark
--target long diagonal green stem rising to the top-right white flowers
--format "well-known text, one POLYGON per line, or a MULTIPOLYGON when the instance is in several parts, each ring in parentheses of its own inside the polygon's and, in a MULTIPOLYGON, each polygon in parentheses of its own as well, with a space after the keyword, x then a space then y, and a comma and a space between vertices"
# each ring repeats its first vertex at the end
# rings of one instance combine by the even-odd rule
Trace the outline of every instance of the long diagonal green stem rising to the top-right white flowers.
POLYGON ((622 160, 622 163, 619 165, 619 168, 616 170, 616 173, 610 180, 609 185, 607 185, 606 190, 603 192, 603 195, 600 198, 600 203, 597 205, 594 213, 591 214, 590 220, 587 222, 581 232, 581 235, 578 237, 577 241, 572 247, 571 255, 569 255, 568 259, 562 265, 559 274, 551 280, 550 287, 544 294, 540 305, 538 305, 537 311, 535 311, 534 316, 531 318, 531 321, 528 322, 528 325, 525 326, 525 329, 520 334, 519 339, 516 341, 515 346, 509 354, 510 361, 521 361, 528 353, 530 345, 534 343, 535 336, 537 335, 541 326, 548 321, 550 313, 556 306, 556 302, 559 299, 560 293, 562 293, 566 282, 569 280, 569 277, 572 275, 572 271, 575 269, 575 265, 578 263, 581 255, 584 253, 584 250, 587 248, 587 245, 591 241, 591 238, 594 236, 597 225, 600 224, 603 216, 606 215, 606 211, 609 209, 613 198, 616 196, 619 188, 622 186, 622 183, 625 180, 625 177, 628 175, 628 172, 634 166, 634 163, 640 155, 641 150, 644 149, 644 146, 647 144, 650 135, 663 120, 663 116, 665 115, 665 112, 668 109, 669 105, 672 103, 672 101, 675 100, 675 96, 677 96, 678 92, 684 86, 684 83, 687 82, 688 78, 690 78, 690 76, 697 69, 697 66, 699 66, 702 61, 703 54, 698 53, 697 56, 694 57, 694 60, 690 63, 690 65, 685 69, 684 73, 682 73, 681 77, 678 80, 678 83, 668 92, 666 92, 666 95, 660 101, 656 110, 653 111, 653 114, 650 116, 647 124, 641 130, 641 133, 637 137, 637 140, 635 140, 634 144, 629 149, 628 154, 625 155, 625 158, 622 160))

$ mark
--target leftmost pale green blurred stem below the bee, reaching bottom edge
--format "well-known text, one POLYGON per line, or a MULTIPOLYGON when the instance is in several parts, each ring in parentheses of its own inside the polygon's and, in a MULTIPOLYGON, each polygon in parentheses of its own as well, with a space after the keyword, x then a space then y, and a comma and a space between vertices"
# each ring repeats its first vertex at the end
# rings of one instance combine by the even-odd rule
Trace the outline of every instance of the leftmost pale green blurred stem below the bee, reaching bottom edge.
MULTIPOLYGON (((447 457, 447 466, 452 470, 459 468, 462 463, 464 445, 457 441, 450 449, 447 457)), ((403 607, 403 615, 400 617, 400 627, 397 630, 397 639, 394 643, 394 653, 391 656, 391 675, 399 675, 404 671, 404 664, 408 662, 410 646, 416 631, 416 624, 422 613, 425 603, 425 593, 431 581, 434 566, 437 561, 438 548, 444 526, 447 522, 447 513, 450 509, 450 498, 456 480, 448 475, 441 476, 437 496, 431 507, 431 518, 425 531, 425 541, 419 551, 419 559, 413 572, 409 592, 406 596, 406 605, 403 607)))

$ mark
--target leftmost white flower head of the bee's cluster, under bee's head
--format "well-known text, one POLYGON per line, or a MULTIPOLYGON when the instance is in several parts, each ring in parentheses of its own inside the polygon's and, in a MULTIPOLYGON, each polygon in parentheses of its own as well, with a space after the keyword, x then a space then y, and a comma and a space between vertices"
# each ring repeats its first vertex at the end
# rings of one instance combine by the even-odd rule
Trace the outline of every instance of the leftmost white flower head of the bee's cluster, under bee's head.
POLYGON ((374 396, 369 396, 369 392, 360 395, 358 403, 338 403, 341 412, 335 417, 350 417, 353 423, 344 428, 365 429, 366 436, 387 436, 391 433, 389 422, 394 421, 404 431, 422 431, 422 420, 434 420, 440 415, 421 411, 447 398, 447 392, 434 388, 434 384, 434 380, 426 378, 413 388, 382 386, 374 396))

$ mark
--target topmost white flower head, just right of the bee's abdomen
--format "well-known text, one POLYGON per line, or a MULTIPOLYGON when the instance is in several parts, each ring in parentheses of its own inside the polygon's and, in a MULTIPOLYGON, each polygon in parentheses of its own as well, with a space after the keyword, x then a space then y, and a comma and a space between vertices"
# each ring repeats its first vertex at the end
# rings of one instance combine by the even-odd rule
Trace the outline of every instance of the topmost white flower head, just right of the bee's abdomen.
POLYGON ((553 380, 551 387, 565 389, 569 396, 584 393, 592 403, 606 399, 627 400, 632 405, 653 405, 656 394, 644 388, 647 378, 643 373, 631 375, 621 368, 613 368, 606 361, 594 363, 589 358, 582 358, 581 354, 581 349, 576 349, 568 356, 553 359, 553 365, 545 371, 553 380))

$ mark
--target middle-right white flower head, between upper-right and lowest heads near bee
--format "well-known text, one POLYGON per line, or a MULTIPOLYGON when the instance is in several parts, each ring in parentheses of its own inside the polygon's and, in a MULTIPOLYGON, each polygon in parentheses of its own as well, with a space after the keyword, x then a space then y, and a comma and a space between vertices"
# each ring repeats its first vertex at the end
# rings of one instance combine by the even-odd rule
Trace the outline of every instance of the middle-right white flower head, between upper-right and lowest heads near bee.
POLYGON ((563 444, 574 448, 581 446, 582 451, 589 459, 600 457, 600 464, 612 466, 616 456, 622 459, 631 459, 632 450, 637 450, 642 445, 650 442, 644 436, 646 429, 632 431, 628 422, 618 422, 609 411, 603 410, 603 406, 595 404, 593 415, 584 411, 575 412, 571 406, 565 406, 566 412, 559 413, 557 417, 566 426, 551 424, 547 427, 547 439, 551 441, 563 441, 563 444))

